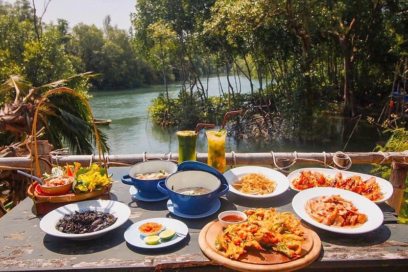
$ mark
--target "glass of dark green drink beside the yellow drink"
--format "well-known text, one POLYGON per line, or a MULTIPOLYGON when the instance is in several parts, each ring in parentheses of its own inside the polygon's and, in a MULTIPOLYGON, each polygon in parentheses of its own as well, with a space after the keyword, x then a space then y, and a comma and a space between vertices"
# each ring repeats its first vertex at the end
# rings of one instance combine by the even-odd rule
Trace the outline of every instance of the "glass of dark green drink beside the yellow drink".
POLYGON ((179 141, 179 163, 183 161, 195 161, 196 141, 198 133, 192 130, 183 130, 176 132, 179 141))

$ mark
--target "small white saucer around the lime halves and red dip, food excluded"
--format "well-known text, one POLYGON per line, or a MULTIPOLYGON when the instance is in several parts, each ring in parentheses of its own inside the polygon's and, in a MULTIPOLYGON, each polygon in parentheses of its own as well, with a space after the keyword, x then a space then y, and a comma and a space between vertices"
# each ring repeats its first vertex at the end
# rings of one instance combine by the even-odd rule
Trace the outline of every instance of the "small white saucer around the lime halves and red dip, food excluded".
POLYGON ((177 234, 174 235, 172 239, 169 241, 162 241, 160 240, 156 244, 147 244, 145 241, 143 241, 143 237, 139 233, 139 227, 140 225, 143 225, 147 222, 155 222, 163 225, 166 229, 169 230, 175 230, 176 232, 179 232, 181 234, 188 234, 188 228, 187 226, 179 220, 173 219, 173 218, 151 218, 151 219, 146 219, 146 220, 141 220, 127 228, 125 231, 125 240, 130 243, 133 246, 137 246, 138 248, 143 248, 143 249, 158 249, 158 248, 165 248, 166 246, 175 244, 183 240, 185 237, 180 237, 177 234))

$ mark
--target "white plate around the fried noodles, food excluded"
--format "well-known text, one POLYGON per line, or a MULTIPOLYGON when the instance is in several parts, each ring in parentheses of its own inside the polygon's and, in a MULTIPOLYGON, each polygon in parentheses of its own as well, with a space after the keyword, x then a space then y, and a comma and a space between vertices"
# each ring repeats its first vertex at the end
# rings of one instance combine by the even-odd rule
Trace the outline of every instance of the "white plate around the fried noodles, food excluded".
POLYGON ((281 172, 278 172, 274 169, 261 167, 261 166, 241 166, 232 168, 224 173, 224 177, 228 181, 229 191, 235 194, 239 194, 250 199, 267 199, 269 197, 277 196, 281 193, 284 193, 287 188, 289 188, 289 180, 283 175, 281 172), (236 181, 241 180, 241 178, 247 174, 255 173, 255 174, 263 174, 268 179, 271 179, 276 182, 275 190, 269 194, 247 194, 238 191, 235 189, 232 184, 236 181))

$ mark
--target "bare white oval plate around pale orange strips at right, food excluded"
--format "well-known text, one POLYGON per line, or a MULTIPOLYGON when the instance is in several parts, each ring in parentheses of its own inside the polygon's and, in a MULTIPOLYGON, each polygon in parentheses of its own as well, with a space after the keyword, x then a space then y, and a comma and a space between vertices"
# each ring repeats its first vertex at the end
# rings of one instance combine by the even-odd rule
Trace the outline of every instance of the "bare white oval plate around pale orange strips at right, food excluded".
POLYGON ((359 195, 358 193, 338 188, 318 187, 303 190, 293 197, 292 207, 295 212, 309 224, 320 229, 336 233, 360 234, 370 232, 381 226, 382 221, 384 220, 384 215, 382 214, 381 209, 378 208, 374 202, 367 199, 363 195, 359 195), (313 200, 323 195, 330 196, 333 194, 340 194, 343 199, 351 201, 358 209, 358 212, 367 215, 367 221, 363 225, 356 228, 339 228, 321 224, 307 214, 305 205, 308 200, 313 200))

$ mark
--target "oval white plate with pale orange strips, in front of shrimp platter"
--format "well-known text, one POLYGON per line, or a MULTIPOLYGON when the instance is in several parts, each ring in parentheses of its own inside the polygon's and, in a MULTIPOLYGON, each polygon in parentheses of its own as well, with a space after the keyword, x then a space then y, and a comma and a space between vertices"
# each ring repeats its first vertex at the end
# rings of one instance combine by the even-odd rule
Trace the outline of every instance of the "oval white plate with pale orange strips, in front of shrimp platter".
POLYGON ((371 232, 384 220, 381 209, 367 197, 339 188, 303 190, 293 197, 292 207, 310 225, 335 233, 371 232))

